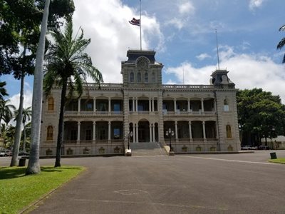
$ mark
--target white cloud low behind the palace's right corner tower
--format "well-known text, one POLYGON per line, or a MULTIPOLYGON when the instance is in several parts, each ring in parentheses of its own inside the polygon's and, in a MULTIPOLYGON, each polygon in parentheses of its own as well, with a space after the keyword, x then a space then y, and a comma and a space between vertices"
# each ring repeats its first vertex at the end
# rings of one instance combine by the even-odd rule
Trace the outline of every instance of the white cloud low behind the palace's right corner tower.
MULTIPOLYGON (((228 76, 236 88, 263 88, 264 91, 279 95, 285 103, 285 73, 280 72, 284 71, 284 65, 277 64, 264 55, 237 54, 229 46, 224 46, 220 54, 220 68, 227 66, 228 76)), ((166 68, 165 73, 174 73, 177 83, 182 83, 184 69, 185 83, 209 84, 210 75, 216 68, 216 65, 195 68, 191 63, 185 62, 177 67, 166 68)))

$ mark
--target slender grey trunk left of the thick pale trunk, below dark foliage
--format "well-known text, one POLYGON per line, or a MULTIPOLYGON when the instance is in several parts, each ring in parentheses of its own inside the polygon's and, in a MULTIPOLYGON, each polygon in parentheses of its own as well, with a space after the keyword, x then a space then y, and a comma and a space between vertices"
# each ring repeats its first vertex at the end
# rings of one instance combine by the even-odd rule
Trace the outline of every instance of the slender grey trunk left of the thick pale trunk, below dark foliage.
POLYGON ((20 103, 19 103, 18 116, 16 119, 16 132, 15 132, 15 140, 14 140, 14 145, 13 145, 13 156, 11 158, 10 166, 17 165, 17 158, 19 155, 19 147, 20 147, 20 141, 21 141, 21 125, 22 125, 22 121, 23 121, 24 80, 25 80, 25 75, 24 75, 24 72, 22 72, 21 90, 20 90, 20 103))

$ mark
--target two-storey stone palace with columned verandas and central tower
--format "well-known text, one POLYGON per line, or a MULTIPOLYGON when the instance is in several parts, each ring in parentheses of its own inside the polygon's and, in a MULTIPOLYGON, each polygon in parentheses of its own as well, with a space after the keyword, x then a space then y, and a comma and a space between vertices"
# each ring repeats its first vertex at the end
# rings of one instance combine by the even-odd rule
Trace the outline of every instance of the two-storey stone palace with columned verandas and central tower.
MULTIPOLYGON (((123 83, 88 83, 66 104, 62 154, 125 154, 128 146, 167 154, 170 142, 175 153, 240 150, 237 89, 228 71, 214 71, 209 85, 166 85, 155 51, 129 50, 127 57, 123 83)), ((61 88, 53 88, 43 101, 41 156, 56 155, 60 100, 61 88)))

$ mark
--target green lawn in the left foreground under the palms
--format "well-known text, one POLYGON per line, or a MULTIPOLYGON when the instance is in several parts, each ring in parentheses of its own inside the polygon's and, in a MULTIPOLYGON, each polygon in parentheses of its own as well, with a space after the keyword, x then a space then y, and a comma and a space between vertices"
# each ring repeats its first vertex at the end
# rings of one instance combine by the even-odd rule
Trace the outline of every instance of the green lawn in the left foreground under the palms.
POLYGON ((0 213, 18 213, 84 169, 78 166, 43 166, 41 173, 25 175, 26 167, 0 167, 0 213))

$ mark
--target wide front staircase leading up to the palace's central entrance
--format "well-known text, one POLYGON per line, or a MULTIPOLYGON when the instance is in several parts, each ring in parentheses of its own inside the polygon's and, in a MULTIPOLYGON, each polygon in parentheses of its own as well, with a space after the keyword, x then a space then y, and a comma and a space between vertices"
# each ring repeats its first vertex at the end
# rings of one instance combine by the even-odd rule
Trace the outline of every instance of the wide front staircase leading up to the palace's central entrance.
POLYGON ((167 156, 159 143, 130 143, 132 156, 167 156))

